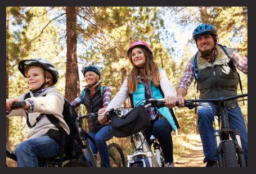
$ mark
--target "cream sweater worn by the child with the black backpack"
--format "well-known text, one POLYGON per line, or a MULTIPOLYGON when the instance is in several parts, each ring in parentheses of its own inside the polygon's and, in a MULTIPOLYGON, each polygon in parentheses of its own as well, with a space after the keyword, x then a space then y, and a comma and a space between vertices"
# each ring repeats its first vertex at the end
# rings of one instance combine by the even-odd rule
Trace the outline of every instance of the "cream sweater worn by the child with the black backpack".
MULTIPOLYGON (((25 94, 26 93, 20 95, 20 97, 17 97, 17 99, 19 101, 23 101, 25 94)), ((31 96, 33 96, 32 93, 30 94, 31 96)), ((51 114, 59 119, 60 125, 69 134, 69 127, 64 121, 62 116, 62 111, 64 106, 64 97, 59 91, 56 91, 54 87, 48 88, 47 90, 43 91, 43 93, 40 94, 39 96, 31 97, 28 99, 32 100, 34 103, 33 113, 29 113, 24 109, 16 109, 16 110, 12 110, 11 113, 7 115, 7 117, 24 116, 25 118, 27 118, 27 114, 28 114, 30 125, 34 125, 34 123, 36 122, 36 118, 40 115, 40 113, 51 114), (44 94, 46 94, 45 97, 42 96, 44 94)), ((46 115, 44 115, 41 118, 41 120, 36 123, 34 127, 29 129, 28 134, 26 135, 26 138, 31 139, 31 138, 43 136, 50 129, 58 130, 57 127, 53 125, 50 122, 50 120, 48 120, 46 115)))

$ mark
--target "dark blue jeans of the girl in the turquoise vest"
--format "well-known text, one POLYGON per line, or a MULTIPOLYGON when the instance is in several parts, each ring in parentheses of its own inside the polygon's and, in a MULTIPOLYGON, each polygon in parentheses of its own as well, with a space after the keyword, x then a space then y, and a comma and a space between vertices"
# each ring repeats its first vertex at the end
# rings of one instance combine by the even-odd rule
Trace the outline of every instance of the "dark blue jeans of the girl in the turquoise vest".
POLYGON ((150 136, 155 135, 158 138, 161 149, 164 154, 164 162, 172 163, 173 162, 173 143, 172 143, 172 127, 170 123, 165 120, 151 120, 151 127, 147 130, 146 140, 147 143, 151 146, 150 136))

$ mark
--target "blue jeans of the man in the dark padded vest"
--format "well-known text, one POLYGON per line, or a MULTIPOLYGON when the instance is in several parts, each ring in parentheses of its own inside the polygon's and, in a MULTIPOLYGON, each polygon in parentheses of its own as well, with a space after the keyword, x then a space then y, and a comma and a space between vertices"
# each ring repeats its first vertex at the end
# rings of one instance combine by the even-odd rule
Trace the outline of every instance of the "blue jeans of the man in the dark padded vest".
MULTIPOLYGON (((212 102, 200 102, 200 104, 215 104, 212 102)), ((217 108, 214 106, 198 107, 198 129, 203 144, 204 162, 217 161, 216 145, 214 139, 213 121, 217 113, 217 108)), ((227 113, 230 116, 230 126, 232 129, 240 130, 242 148, 245 150, 245 161, 248 159, 247 148, 247 130, 244 117, 242 116, 241 108, 236 104, 235 108, 228 108, 227 113)), ((234 140, 234 137, 232 136, 234 140)))

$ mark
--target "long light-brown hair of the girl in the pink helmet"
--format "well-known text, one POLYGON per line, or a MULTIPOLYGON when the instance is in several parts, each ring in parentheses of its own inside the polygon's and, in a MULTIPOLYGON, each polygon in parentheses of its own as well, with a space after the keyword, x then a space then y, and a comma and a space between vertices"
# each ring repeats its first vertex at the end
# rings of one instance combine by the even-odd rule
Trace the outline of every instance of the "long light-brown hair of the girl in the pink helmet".
POLYGON ((132 71, 128 75, 128 90, 129 93, 131 94, 134 91, 137 91, 138 88, 138 75, 145 79, 146 81, 152 81, 152 83, 158 87, 160 85, 160 74, 158 71, 158 65, 153 60, 153 56, 151 53, 149 53, 145 48, 143 47, 136 47, 140 48, 142 52, 145 55, 146 58, 146 65, 143 67, 144 68, 144 73, 141 74, 138 68, 136 68, 132 62, 132 51, 129 53, 129 60, 132 63, 132 71))

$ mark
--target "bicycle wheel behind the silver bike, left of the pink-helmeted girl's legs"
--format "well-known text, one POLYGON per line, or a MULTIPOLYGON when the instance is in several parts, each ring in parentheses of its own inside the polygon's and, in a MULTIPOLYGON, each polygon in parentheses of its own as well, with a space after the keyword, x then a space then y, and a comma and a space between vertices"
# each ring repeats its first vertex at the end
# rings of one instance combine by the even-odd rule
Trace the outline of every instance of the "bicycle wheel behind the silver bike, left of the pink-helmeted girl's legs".
POLYGON ((111 143, 108 146, 111 167, 126 167, 124 153, 121 147, 116 143, 111 143))

